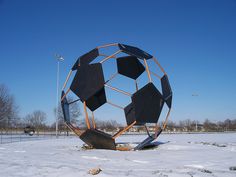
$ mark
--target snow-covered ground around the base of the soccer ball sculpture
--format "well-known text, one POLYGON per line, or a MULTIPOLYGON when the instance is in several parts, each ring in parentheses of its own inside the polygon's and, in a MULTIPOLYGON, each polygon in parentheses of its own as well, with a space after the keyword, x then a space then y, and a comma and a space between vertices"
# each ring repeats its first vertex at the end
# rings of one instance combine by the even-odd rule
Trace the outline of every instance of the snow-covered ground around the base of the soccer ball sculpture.
MULTIPOLYGON (((117 142, 139 142, 127 135, 117 142)), ((76 137, 0 145, 0 177, 236 176, 236 133, 162 134, 158 147, 143 151, 83 150, 76 137)))

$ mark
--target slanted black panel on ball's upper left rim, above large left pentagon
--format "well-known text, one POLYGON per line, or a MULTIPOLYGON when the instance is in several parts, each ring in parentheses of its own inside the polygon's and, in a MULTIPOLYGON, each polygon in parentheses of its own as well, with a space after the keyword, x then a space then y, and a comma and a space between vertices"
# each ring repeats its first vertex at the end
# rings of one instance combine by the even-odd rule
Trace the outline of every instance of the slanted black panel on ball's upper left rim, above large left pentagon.
POLYGON ((79 64, 82 65, 87 65, 90 62, 92 62, 95 58, 97 58, 97 56, 99 55, 98 49, 95 48, 91 51, 89 51, 88 53, 80 56, 77 61, 75 62, 75 64, 72 67, 72 70, 76 70, 79 67, 79 64))

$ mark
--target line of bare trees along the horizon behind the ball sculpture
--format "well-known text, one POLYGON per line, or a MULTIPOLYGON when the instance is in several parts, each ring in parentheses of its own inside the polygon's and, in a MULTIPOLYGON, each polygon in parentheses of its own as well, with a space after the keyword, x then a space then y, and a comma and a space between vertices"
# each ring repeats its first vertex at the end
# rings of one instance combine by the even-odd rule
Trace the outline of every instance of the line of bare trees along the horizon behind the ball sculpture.
MULTIPOLYGON (((68 98, 72 100, 72 98, 68 98)), ((10 94, 9 89, 0 84, 0 129, 22 129, 26 126, 35 127, 36 131, 54 131, 56 123, 51 125, 47 124, 47 115, 41 110, 35 110, 32 113, 27 114, 23 118, 18 115, 19 107, 16 105, 14 96, 10 94)), ((61 106, 57 109, 58 116, 58 128, 59 131, 68 131, 64 123, 63 113, 61 106)), ((56 113, 56 109, 54 109, 56 113)), ((80 119, 81 112, 78 103, 74 103, 70 106, 71 123, 78 125, 82 129, 85 129, 86 123, 84 119, 80 119)), ((91 118, 90 118, 91 119, 91 118)), ((107 131, 116 130, 122 127, 120 123, 115 120, 98 120, 96 119, 96 125, 100 129, 107 131)), ((137 127, 137 131, 142 131, 143 127, 137 127)), ((167 131, 236 131, 236 119, 226 119, 223 121, 212 122, 206 119, 202 123, 197 120, 182 120, 179 122, 169 121, 167 124, 167 131)))

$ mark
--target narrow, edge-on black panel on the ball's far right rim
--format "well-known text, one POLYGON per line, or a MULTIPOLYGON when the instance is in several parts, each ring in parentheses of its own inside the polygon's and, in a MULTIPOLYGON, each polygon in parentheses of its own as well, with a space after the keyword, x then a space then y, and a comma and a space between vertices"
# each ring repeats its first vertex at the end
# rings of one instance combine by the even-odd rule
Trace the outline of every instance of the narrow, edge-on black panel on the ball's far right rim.
POLYGON ((169 79, 167 75, 164 75, 161 78, 161 88, 162 88, 162 94, 163 98, 165 99, 165 102, 169 108, 171 108, 172 104, 172 90, 170 87, 169 79))

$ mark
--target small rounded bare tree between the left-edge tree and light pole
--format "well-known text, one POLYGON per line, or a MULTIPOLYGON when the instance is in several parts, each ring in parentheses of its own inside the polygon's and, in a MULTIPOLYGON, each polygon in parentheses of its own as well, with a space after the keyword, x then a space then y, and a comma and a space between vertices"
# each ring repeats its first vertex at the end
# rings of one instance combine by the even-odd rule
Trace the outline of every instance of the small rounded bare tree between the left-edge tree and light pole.
POLYGON ((36 131, 39 133, 39 130, 46 127, 46 113, 43 111, 37 110, 31 114, 26 115, 24 122, 27 125, 35 127, 36 131))

